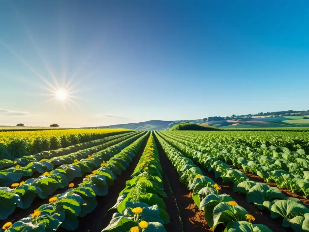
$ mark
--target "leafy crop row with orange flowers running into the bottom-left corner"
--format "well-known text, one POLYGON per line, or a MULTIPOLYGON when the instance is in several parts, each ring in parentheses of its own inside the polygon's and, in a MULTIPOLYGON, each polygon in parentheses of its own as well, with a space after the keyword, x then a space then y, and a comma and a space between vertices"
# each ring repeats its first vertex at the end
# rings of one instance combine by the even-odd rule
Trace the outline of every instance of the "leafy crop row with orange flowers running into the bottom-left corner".
POLYGON ((51 197, 49 204, 41 205, 34 213, 14 224, 7 222, 2 229, 6 232, 54 231, 61 226, 66 230, 76 230, 78 217, 84 217, 95 209, 95 197, 106 195, 108 186, 114 184, 116 176, 126 170, 132 158, 136 156, 148 136, 148 133, 142 134, 139 134, 139 137, 142 137, 133 143, 131 141, 130 145, 126 144, 126 148, 122 147, 122 150, 110 159, 103 154, 87 159, 88 165, 100 167, 86 175, 78 187, 74 188, 73 183, 69 184, 70 189, 51 197))

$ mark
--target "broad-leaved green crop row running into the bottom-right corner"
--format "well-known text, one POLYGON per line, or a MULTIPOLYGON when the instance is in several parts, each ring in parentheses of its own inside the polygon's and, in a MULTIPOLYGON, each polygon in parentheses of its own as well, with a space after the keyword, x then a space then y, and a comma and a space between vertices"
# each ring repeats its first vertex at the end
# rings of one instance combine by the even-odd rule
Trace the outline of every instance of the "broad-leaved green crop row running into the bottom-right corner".
POLYGON ((217 158, 178 142, 179 139, 171 139, 163 133, 160 133, 160 136, 192 160, 201 164, 206 170, 214 170, 216 178, 221 177, 225 182, 234 183, 233 190, 246 194, 246 200, 249 203, 254 203, 260 210, 267 208, 273 218, 283 218, 282 226, 291 226, 295 231, 308 231, 306 218, 309 216, 309 209, 299 203, 298 199, 287 198, 276 187, 249 181, 248 177, 239 170, 231 169, 229 165, 217 158))

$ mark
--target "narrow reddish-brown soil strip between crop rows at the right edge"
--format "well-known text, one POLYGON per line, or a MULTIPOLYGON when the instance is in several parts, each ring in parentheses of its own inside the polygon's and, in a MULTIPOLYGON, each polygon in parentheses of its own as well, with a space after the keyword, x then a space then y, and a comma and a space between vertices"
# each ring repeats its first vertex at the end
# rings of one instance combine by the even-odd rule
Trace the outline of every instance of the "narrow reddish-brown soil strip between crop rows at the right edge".
MULTIPOLYGON (((234 169, 241 171, 243 174, 248 176, 249 180, 253 180, 255 182, 260 182, 260 183, 265 183, 265 184, 272 186, 272 187, 277 187, 276 183, 265 182, 265 180, 263 178, 261 178, 260 176, 254 175, 253 173, 246 172, 243 169, 239 169, 238 167, 235 167, 234 165, 229 165, 229 166, 231 168, 234 168, 234 169)), ((293 193, 290 190, 285 189, 285 188, 279 188, 279 189, 286 197, 295 197, 295 198, 299 199, 304 205, 309 206, 309 199, 304 198, 302 195, 293 193)))

